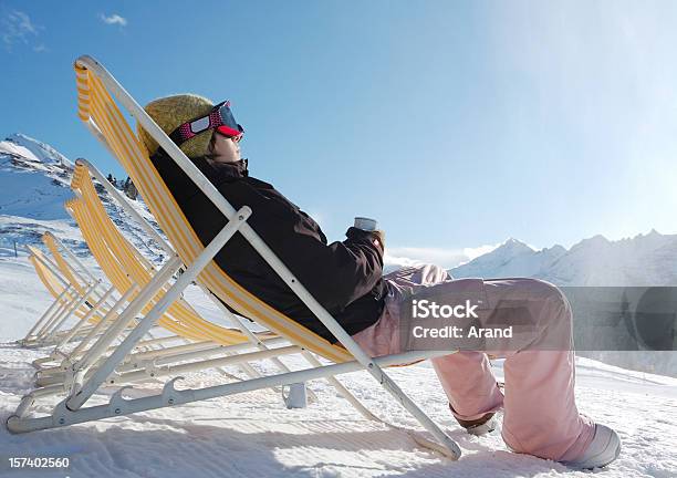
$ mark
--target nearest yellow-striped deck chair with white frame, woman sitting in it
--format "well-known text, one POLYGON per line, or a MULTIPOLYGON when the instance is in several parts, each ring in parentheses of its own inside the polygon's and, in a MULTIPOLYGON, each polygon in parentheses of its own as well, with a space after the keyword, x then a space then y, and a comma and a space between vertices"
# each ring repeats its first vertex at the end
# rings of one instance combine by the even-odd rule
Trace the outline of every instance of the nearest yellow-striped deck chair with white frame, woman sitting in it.
MULTIPOLYGON (((139 311, 143 304, 139 302, 150 298, 162 287, 158 282, 169 278, 176 270, 185 267, 185 272, 173 283, 163 298, 140 320, 139 324, 123 341, 93 375, 85 382, 76 383, 70 395, 54 408, 52 415, 46 417, 28 417, 19 411, 15 416, 8 419, 8 428, 11 432, 29 432, 101 419, 111 416, 131 414, 140 411, 175 406, 200 399, 219 396, 228 396, 236 393, 254 391, 271 385, 292 384, 306 380, 325 377, 337 384, 336 375, 366 371, 393 398, 403 405, 425 429, 431 435, 431 439, 408 430, 410 436, 420 445, 444 453, 446 456, 458 459, 460 448, 448 437, 385 373, 383 367, 402 365, 419 360, 441 356, 449 351, 425 351, 406 352, 396 355, 371 357, 360 345, 345 332, 336 320, 308 292, 305 287, 299 282, 293 273, 274 254, 268 245, 249 226, 247 219, 252 214, 248 206, 236 210, 228 200, 204 177, 204 175, 191 164, 184 153, 168 138, 168 136, 153 122, 145 111, 134 98, 117 83, 117 81, 94 59, 81 56, 75 62, 79 96, 79 116, 85 125, 115 154, 125 172, 129 175, 148 208, 158 221, 162 230, 166 233, 169 242, 175 248, 173 256, 158 271, 154 280, 144 288, 142 299, 133 301, 133 304, 122 314, 129 318, 139 311), (171 158, 186 172, 195 184, 228 218, 228 224, 213 238, 204 246, 189 222, 183 215, 180 208, 174 200, 162 178, 154 168, 143 145, 134 134, 125 117, 117 107, 113 96, 131 113, 137 122, 158 142, 158 144, 171 156, 171 158), (301 324, 289 319, 274 310, 257 297, 241 288, 228 274, 221 270, 212 260, 223 245, 236 233, 240 233, 271 266, 275 273, 296 293, 317 319, 340 341, 332 344, 323 337, 314 334, 301 324), (155 280, 157 278, 157 280, 155 280), (227 383, 223 385, 205 388, 177 389, 175 380, 167 382, 163 392, 158 395, 142 398, 126 399, 121 394, 111 398, 107 405, 84 406, 92 395, 106 382, 111 372, 140 340, 143 334, 163 315, 163 313, 177 300, 181 291, 192 281, 204 284, 211 293, 216 294, 230 308, 241 315, 256 320, 268 330, 287 339, 290 347, 299 352, 306 351, 324 358, 330 364, 323 364, 317 358, 315 365, 301 371, 287 372, 277 375, 252 378, 248 381, 227 383)), ((264 353, 263 351, 246 353, 242 356, 254 358, 264 353)), ((345 395, 344 395, 345 396, 345 395)), ((346 398, 367 417, 375 418, 354 396, 346 398)), ((21 408, 21 405, 20 405, 21 408)))

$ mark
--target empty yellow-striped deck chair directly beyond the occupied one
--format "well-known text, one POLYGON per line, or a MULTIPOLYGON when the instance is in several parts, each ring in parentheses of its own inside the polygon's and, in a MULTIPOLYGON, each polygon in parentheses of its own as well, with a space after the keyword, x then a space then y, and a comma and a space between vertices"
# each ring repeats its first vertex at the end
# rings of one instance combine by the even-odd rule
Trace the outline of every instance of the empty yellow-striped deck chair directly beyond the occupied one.
MULTIPOLYGON (((111 219, 105 215, 103 205, 98 200, 98 196, 96 195, 94 185, 91 181, 88 174, 86 174, 86 168, 83 166, 82 162, 80 163, 79 168, 80 168, 81 174, 75 174, 74 176, 74 184, 76 185, 75 193, 77 194, 79 198, 66 201, 66 210, 69 210, 72 214, 73 218, 79 224, 81 231, 83 233, 83 237, 87 241, 87 245, 90 246, 92 253, 97 259, 98 263, 102 266, 102 269, 108 274, 108 277, 117 277, 118 279, 119 277, 126 277, 128 280, 132 281, 132 285, 129 287, 129 282, 121 283, 114 280, 114 282, 117 283, 117 287, 123 287, 123 288, 128 287, 128 291, 132 291, 132 293, 125 292, 124 294, 122 294, 123 295, 122 299, 124 299, 124 301, 132 300, 132 295, 136 293, 136 290, 138 289, 134 284, 133 279, 136 279, 139 281, 147 281, 150 279, 149 277, 144 277, 143 274, 139 276, 138 268, 140 268, 140 270, 147 270, 148 268, 150 268, 150 266, 147 261, 144 262, 143 264, 137 263, 136 264, 138 267, 137 270, 132 273, 126 273, 123 269, 119 269, 119 268, 116 269, 115 266, 113 266, 114 263, 118 263, 118 260, 122 257, 122 258, 125 258, 127 262, 127 267, 132 268, 132 263, 136 259, 134 254, 132 254, 131 252, 132 250, 134 250, 134 248, 132 247, 131 243, 126 241, 126 239, 124 239, 124 237, 122 237, 122 235, 119 235, 119 231, 117 231, 117 229, 115 228, 111 219), (85 173, 83 174, 83 172, 85 173), (94 219, 94 217, 96 217, 96 219, 94 219), (118 233, 119 237, 114 236, 114 232, 118 233), (114 236, 113 239, 111 239, 112 235, 114 236), (106 242, 105 239, 108 239, 108 242, 106 242), (112 245, 113 242, 116 243, 115 250, 117 254, 111 253, 110 245, 112 245)), ((77 170, 79 169, 76 168, 76 172, 77 170)), ((48 243, 52 246, 51 247, 52 252, 56 257, 61 257, 59 250, 53 248, 55 242, 56 242, 56 239, 53 237, 50 238, 50 240, 48 241, 48 243)), ((46 260, 39 250, 35 250, 33 252, 37 257, 41 258, 42 261, 46 260)), ((62 263, 62 261, 58 261, 58 263, 62 263)), ((76 280, 76 279, 71 277, 71 280, 76 280)), ((62 281, 65 283, 65 280, 62 279, 62 281)), ((53 288, 54 285, 52 282, 54 281, 52 280, 51 282, 49 282, 49 284, 52 285, 53 288)), ((118 305, 119 304, 116 304, 116 308, 118 305)), ((195 358, 195 357, 210 356, 210 355, 213 355, 215 353, 217 354, 227 353, 228 354, 235 350, 240 350, 240 349, 243 349, 243 346, 250 345, 247 342, 247 337, 238 331, 233 331, 230 329, 223 329, 220 326, 216 326, 213 324, 208 324, 211 328, 210 331, 200 330, 199 322, 200 321, 205 322, 205 321, 198 318, 197 315, 190 315, 191 313, 195 314, 195 312, 191 312, 187 304, 177 302, 174 305, 176 306, 183 305, 183 309, 179 309, 179 312, 183 315, 178 315, 175 312, 176 314, 175 316, 183 318, 181 322, 179 323, 177 320, 175 320, 174 316, 166 314, 166 316, 163 318, 163 320, 160 320, 160 323, 165 324, 167 329, 174 332, 178 332, 179 334, 184 334, 192 339, 210 337, 211 341, 194 342, 187 345, 164 347, 162 350, 138 351, 134 354, 131 354, 127 357, 126 362, 122 363, 114 371, 114 374, 112 374, 111 377, 107 380, 107 384, 110 385, 118 384, 118 383, 126 384, 126 383, 133 383, 133 382, 134 383, 143 382, 143 381, 147 381, 148 378, 155 380, 157 377, 167 376, 167 375, 170 375, 173 372, 176 372, 177 367, 168 367, 168 366, 162 367, 162 365, 167 365, 173 362, 185 362, 187 360, 195 358), (213 331, 218 331, 220 333, 216 335, 212 333, 213 331), (213 342, 213 340, 216 340, 218 343, 213 342), (230 346, 225 346, 229 344, 230 346)), ((100 325, 103 325, 106 321, 113 322, 113 325, 114 325, 115 321, 117 320, 117 314, 112 314, 112 315, 113 315, 112 318, 107 315, 104 316, 103 320, 97 323, 96 328, 98 328, 100 325)), ((133 324, 133 325, 136 325, 136 324, 133 324)), ((103 329, 103 333, 104 334, 108 333, 111 329, 112 328, 103 329)), ((94 332, 96 330, 94 330, 94 332)), ((117 336, 118 336, 117 332, 112 334, 112 339, 117 339, 117 336)), ((261 334, 258 334, 257 336, 259 337, 260 343, 265 343, 265 344, 279 344, 280 343, 280 339, 275 337, 273 334, 270 334, 270 333, 261 333, 261 334)), ((157 342, 158 340, 153 340, 153 341, 157 342)), ((152 341, 139 342, 135 349, 139 349, 139 346, 147 345, 149 342, 152 341)), ((73 354, 75 352, 79 352, 81 345, 84 343, 85 341, 81 342, 81 344, 79 345, 79 347, 75 349, 73 354)), ((106 344, 110 342, 106 342, 106 344)), ((111 350, 115 350, 115 347, 111 350)), ((110 352, 111 350, 108 350, 107 352, 110 352)), ((70 385, 72 384, 72 380, 73 380, 73 374, 70 372, 82 370, 83 368, 82 363, 86 363, 87 361, 95 362, 97 358, 98 360, 105 358, 107 355, 105 353, 102 353, 102 351, 103 349, 101 347, 97 350, 85 350, 84 355, 81 356, 80 360, 77 360, 77 362, 74 362, 71 355, 64 358, 60 366, 53 367, 52 370, 41 371, 42 374, 40 374, 39 372, 40 375, 38 376, 39 380, 37 381, 37 383, 40 386, 40 388, 34 389, 33 392, 31 392, 31 394, 24 397, 24 399, 22 401, 24 404, 23 408, 29 406, 29 404, 32 404, 32 402, 34 402, 38 398, 41 398, 44 396, 56 395, 56 394, 66 392, 70 385), (72 370, 70 370, 71 367, 72 370)), ((260 376, 260 374, 256 370, 253 370, 250 365, 247 365, 246 363, 240 363, 241 361, 228 361, 228 360, 222 361, 221 360, 219 362, 219 360, 212 360, 210 362, 210 365, 212 365, 212 367, 217 367, 218 365, 226 364, 227 362, 238 362, 238 365, 242 366, 249 376, 260 376)), ((96 364, 94 363, 93 367, 95 367, 95 365, 96 364)), ((183 373, 183 372, 190 372, 192 370, 202 370, 206 366, 204 363, 196 364, 195 362, 191 362, 188 364, 180 365, 178 367, 179 368, 178 371, 183 373)), ((228 374, 225 371, 220 371, 220 372, 232 378, 237 378, 232 376, 231 374, 228 374)), ((314 394, 311 394, 311 397, 314 397, 314 394)))

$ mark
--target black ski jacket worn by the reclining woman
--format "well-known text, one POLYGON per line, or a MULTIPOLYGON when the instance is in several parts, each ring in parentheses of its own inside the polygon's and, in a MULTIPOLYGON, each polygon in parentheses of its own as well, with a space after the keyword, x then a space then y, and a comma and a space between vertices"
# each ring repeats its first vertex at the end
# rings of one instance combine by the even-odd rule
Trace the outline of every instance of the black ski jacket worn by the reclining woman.
MULTIPOLYGON (((164 152, 150 158, 204 246, 228 220, 164 152)), ((248 224, 309 292, 355 334, 375 323, 384 308, 383 249, 375 235, 351 227, 343 242, 327 245, 320 226, 272 185, 249 176, 247 159, 194 164, 239 209, 249 206, 248 224)), ((263 302, 332 343, 336 339, 303 304, 240 233, 215 258, 236 282, 263 302)), ((230 308, 229 308, 230 309, 230 308)))

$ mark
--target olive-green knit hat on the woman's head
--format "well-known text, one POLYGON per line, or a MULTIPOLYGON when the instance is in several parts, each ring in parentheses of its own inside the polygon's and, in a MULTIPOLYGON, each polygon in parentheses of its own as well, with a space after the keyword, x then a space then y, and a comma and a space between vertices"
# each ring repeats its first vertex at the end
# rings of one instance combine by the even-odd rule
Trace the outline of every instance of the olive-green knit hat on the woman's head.
MULTIPOLYGON (((200 116, 207 116, 212 108, 213 103, 204 96, 179 94, 154 100, 148 103, 144 110, 146 110, 148 116, 169 135, 181 124, 200 116)), ((148 155, 153 156, 157 152, 159 145, 140 124, 136 125, 136 129, 146 149, 148 149, 148 155)), ((212 135, 213 129, 204 131, 183 143, 180 148, 189 158, 205 156, 209 153, 209 143, 211 142, 212 135)))

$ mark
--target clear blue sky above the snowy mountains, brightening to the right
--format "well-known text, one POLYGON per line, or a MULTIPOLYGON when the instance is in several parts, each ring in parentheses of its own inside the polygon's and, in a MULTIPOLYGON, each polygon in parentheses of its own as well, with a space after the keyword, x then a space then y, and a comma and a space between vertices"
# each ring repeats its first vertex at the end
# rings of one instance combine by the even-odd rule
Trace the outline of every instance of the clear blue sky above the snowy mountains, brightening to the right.
POLYGON ((676 24, 671 1, 0 1, 0 135, 122 176, 75 115, 87 53, 142 104, 230 98, 251 175, 330 240, 369 216, 449 267, 675 233, 676 24))

